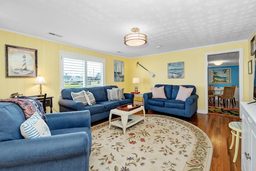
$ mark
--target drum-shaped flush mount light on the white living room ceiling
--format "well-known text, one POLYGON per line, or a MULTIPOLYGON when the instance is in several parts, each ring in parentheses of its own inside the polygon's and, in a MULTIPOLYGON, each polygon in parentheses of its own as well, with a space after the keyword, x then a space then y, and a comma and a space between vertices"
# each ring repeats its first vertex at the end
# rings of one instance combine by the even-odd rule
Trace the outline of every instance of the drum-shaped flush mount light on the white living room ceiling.
POLYGON ((140 33, 139 28, 132 28, 131 34, 124 36, 124 44, 127 46, 141 46, 147 43, 147 36, 140 33))

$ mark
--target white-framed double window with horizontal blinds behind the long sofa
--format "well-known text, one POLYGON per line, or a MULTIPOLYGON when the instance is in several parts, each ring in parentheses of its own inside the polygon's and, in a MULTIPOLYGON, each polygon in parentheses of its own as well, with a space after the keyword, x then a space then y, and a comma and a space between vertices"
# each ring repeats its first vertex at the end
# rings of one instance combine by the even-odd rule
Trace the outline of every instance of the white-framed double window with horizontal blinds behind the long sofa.
POLYGON ((60 90, 105 85, 105 59, 60 51, 60 90))

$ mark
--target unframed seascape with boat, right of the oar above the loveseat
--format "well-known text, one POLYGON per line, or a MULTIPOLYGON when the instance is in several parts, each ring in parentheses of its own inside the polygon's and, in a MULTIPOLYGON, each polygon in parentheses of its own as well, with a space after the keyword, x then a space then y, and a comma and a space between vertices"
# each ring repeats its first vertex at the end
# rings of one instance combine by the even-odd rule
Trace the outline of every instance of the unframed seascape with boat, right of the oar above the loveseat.
POLYGON ((167 64, 168 79, 184 78, 184 62, 172 62, 167 64))

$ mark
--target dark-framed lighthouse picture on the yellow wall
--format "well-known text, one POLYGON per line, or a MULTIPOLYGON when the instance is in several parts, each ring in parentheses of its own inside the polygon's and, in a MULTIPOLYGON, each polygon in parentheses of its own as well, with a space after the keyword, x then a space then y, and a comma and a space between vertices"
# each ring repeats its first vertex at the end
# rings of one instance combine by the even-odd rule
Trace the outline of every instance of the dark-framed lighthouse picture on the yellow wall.
POLYGON ((5 45, 6 78, 37 76, 37 50, 5 45))

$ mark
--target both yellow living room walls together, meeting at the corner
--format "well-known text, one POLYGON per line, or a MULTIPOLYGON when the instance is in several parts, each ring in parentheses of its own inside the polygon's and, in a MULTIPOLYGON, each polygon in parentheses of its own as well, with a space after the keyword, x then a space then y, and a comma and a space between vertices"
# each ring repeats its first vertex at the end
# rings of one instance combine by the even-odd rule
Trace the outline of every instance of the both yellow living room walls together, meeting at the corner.
POLYGON ((0 72, 0 82, 2 83, 0 98, 2 99, 9 98, 11 93, 16 92, 24 93, 24 95, 36 95, 39 92, 38 85, 34 85, 35 78, 5 78, 4 45, 9 44, 38 50, 38 75, 44 76, 47 82, 46 85, 43 85, 42 92, 54 96, 53 107, 56 111, 59 111, 59 50, 105 58, 106 85, 124 87, 125 92, 134 91, 133 77, 140 78, 140 84, 138 84, 140 92, 150 92, 150 87, 154 87, 155 84, 195 85, 199 95, 198 109, 205 110, 205 53, 243 48, 244 101, 252 101, 250 94, 252 94, 253 74, 248 75, 248 61, 253 58, 250 56, 250 41, 127 59, 1 30, 0 38, 0 47, 2 47, 0 48, 0 56, 2 56, 0 58, 2 70, 0 72), (114 60, 124 61, 125 82, 114 82, 114 60), (156 74, 156 77, 152 78, 142 67, 136 67, 137 62, 156 74), (170 62, 184 62, 184 79, 167 79, 167 64, 170 62))

